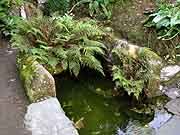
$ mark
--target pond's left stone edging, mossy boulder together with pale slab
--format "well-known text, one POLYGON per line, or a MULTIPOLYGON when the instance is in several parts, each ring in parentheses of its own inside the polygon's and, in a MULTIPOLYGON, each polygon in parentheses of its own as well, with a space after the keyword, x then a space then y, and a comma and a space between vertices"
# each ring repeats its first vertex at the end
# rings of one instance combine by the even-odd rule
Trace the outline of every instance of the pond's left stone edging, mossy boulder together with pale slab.
POLYGON ((31 57, 18 63, 20 77, 31 102, 25 126, 32 135, 78 135, 58 99, 53 76, 31 57))

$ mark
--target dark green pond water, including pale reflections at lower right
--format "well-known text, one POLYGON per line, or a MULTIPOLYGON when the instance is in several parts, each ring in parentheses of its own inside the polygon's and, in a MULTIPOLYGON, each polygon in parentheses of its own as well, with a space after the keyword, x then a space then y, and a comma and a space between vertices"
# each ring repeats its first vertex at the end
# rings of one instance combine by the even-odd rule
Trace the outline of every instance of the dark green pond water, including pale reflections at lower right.
POLYGON ((66 115, 74 122, 80 120, 80 135, 155 135, 170 119, 166 112, 156 112, 152 120, 130 111, 130 99, 111 96, 113 83, 97 75, 55 78, 57 96, 66 115))

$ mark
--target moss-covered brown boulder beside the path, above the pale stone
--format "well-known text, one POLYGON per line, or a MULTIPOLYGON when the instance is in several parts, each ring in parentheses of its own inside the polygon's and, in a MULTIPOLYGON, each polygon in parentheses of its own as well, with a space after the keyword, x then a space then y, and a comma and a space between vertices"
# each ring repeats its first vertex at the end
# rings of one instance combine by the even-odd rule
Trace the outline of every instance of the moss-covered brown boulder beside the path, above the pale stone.
POLYGON ((37 61, 29 57, 21 63, 19 69, 30 102, 36 102, 49 96, 56 96, 54 78, 37 61))

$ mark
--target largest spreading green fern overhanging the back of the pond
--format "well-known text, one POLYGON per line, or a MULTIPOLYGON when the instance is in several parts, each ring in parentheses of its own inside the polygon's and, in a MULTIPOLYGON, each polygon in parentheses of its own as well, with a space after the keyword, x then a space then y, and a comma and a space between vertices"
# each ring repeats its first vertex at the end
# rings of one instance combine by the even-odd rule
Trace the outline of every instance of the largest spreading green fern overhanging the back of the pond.
POLYGON ((96 56, 103 56, 100 42, 104 32, 94 20, 74 20, 71 16, 36 17, 24 20, 12 36, 12 45, 55 72, 69 70, 77 76, 82 67, 103 73, 96 56))

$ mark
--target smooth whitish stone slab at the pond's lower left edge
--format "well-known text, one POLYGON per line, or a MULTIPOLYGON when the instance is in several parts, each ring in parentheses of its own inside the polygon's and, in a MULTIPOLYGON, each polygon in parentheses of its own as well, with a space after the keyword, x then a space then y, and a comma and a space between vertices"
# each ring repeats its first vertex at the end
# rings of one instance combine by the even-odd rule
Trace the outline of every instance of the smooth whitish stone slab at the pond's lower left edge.
POLYGON ((28 106, 25 125, 32 135, 78 135, 57 98, 49 98, 28 106))

